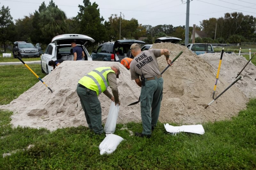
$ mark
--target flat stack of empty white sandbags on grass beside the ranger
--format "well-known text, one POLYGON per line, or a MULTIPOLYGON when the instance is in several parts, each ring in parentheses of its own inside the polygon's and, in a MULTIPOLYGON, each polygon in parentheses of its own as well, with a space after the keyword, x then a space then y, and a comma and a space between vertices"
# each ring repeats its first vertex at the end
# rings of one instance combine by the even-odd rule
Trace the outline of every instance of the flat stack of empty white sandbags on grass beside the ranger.
POLYGON ((200 135, 204 134, 204 128, 201 124, 172 126, 166 123, 164 124, 164 128, 167 132, 170 132, 170 133, 189 132, 189 133, 197 133, 200 135))

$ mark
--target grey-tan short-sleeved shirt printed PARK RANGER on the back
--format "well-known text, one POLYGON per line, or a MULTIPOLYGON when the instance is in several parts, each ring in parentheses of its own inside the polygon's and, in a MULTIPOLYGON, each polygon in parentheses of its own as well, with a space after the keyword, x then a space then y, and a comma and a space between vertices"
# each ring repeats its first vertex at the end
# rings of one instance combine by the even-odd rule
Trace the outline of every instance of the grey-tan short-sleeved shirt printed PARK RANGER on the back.
POLYGON ((150 78, 160 75, 157 57, 161 56, 161 49, 150 49, 141 51, 130 64, 131 78, 135 80, 144 75, 145 78, 150 78))

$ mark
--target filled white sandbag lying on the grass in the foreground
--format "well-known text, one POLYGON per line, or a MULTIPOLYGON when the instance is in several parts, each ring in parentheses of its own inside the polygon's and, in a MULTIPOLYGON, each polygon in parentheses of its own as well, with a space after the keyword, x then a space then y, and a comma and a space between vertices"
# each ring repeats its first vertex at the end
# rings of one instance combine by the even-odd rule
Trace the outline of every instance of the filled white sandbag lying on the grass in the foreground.
POLYGON ((100 155, 104 153, 110 154, 114 152, 117 146, 122 142, 124 139, 115 134, 107 134, 104 140, 100 143, 100 155))

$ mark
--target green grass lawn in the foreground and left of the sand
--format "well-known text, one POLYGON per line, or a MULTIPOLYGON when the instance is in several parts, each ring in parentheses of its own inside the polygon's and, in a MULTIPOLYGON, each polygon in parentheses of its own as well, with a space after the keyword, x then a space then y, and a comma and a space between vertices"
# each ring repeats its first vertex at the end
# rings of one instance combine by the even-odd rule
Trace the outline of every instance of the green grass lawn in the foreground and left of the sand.
MULTIPOLYGON (((30 67, 44 77, 39 64, 30 67)), ((23 65, 0 66, 0 104, 37 81, 23 65)), ((125 141, 110 155, 100 155, 104 135, 87 127, 12 128, 11 115, 0 110, 0 169, 256 169, 256 99, 232 120, 204 123, 204 135, 170 135, 158 123, 151 138, 139 138, 128 130, 140 132, 141 123, 117 124, 115 134, 125 141)))

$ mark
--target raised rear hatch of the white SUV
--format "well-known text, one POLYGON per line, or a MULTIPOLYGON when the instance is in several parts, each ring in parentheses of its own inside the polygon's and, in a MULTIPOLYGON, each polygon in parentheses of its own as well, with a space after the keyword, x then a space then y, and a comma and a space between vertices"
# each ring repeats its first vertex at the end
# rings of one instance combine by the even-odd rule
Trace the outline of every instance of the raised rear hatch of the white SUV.
POLYGON ((55 45, 71 44, 73 41, 80 45, 85 45, 88 41, 95 42, 91 37, 82 34, 63 34, 57 35, 52 39, 52 43, 55 45))

